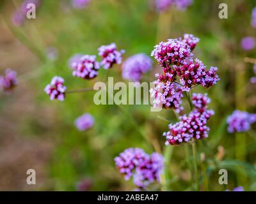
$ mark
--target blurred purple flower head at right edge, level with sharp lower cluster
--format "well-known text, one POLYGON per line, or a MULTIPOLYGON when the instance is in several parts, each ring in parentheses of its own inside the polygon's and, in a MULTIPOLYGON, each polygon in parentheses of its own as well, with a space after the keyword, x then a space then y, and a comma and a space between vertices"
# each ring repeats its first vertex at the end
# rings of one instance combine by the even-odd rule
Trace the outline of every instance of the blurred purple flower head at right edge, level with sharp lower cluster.
POLYGON ((235 110, 232 115, 228 116, 228 132, 242 133, 249 131, 251 125, 256 122, 256 114, 235 110))

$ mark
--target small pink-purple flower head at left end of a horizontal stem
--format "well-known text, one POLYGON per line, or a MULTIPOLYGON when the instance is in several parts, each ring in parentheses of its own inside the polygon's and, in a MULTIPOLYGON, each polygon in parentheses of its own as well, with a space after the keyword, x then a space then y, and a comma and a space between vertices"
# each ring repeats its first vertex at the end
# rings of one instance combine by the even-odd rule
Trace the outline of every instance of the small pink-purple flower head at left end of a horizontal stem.
POLYGON ((58 99, 59 101, 64 101, 67 88, 63 84, 63 78, 53 77, 51 84, 48 84, 44 91, 50 96, 51 100, 58 99))

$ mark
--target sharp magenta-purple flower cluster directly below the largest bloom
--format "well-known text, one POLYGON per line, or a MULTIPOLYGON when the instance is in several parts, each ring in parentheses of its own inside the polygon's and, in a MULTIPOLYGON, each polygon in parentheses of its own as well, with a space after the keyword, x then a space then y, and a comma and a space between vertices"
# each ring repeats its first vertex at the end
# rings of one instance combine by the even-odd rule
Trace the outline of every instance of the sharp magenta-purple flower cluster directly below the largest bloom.
POLYGON ((207 109, 207 104, 211 99, 207 94, 193 94, 192 103, 195 106, 194 110, 189 115, 182 115, 180 121, 175 124, 170 124, 166 137, 166 145, 179 145, 182 142, 189 142, 193 138, 195 140, 207 138, 209 135, 209 127, 206 126, 209 118, 214 115, 213 110, 207 109))

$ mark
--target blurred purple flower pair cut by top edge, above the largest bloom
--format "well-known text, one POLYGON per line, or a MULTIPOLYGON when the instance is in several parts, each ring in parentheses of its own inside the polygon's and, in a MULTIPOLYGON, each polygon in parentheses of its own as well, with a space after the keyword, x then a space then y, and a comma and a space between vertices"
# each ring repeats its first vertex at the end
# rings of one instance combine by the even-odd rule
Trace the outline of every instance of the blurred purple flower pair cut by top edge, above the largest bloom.
POLYGON ((192 3, 193 0, 156 0, 156 8, 158 11, 166 11, 176 6, 178 10, 186 10, 192 3))

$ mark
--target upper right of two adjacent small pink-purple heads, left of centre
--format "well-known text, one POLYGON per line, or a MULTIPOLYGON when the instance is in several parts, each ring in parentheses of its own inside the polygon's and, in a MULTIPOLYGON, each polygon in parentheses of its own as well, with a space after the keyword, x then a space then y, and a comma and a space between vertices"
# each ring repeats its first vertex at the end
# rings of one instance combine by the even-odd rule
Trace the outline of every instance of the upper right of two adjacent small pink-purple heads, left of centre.
POLYGON ((102 57, 101 65, 104 69, 110 69, 114 64, 121 64, 124 50, 116 50, 116 44, 102 45, 99 49, 99 55, 102 57))

